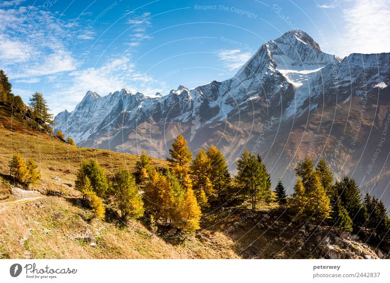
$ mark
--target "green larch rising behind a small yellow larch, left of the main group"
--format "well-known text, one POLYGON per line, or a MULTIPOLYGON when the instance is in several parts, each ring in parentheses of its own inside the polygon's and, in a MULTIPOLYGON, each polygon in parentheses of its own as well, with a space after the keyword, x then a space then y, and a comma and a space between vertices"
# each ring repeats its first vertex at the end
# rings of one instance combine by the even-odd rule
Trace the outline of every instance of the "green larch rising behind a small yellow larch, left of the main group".
POLYGON ((105 198, 108 193, 108 181, 104 170, 100 168, 98 162, 94 159, 89 161, 82 160, 80 168, 77 172, 77 178, 75 182, 76 189, 84 187, 85 177, 88 177, 91 181, 91 187, 98 197, 105 198))

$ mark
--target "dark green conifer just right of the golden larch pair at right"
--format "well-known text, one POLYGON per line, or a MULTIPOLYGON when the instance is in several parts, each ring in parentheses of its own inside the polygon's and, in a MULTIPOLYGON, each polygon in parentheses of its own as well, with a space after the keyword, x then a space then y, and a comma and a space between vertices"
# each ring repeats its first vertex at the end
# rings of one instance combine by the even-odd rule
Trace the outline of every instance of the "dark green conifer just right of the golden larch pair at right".
POLYGON ((353 226, 364 226, 367 221, 367 211, 361 203, 360 189, 355 180, 344 176, 343 180, 335 183, 334 189, 340 197, 341 204, 347 209, 353 226))

